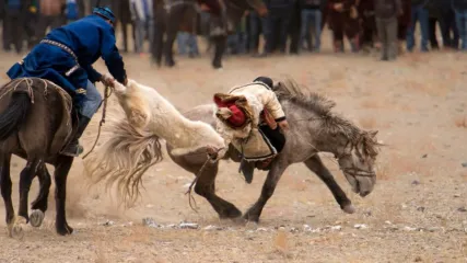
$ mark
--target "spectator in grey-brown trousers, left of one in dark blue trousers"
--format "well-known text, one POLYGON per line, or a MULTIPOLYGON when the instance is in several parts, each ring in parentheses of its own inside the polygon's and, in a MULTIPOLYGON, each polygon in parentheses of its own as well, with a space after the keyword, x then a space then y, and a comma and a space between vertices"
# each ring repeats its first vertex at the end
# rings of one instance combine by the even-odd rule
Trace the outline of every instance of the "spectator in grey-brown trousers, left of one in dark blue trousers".
POLYGON ((382 44, 381 59, 396 59, 397 16, 402 13, 400 0, 375 0, 374 8, 378 38, 382 44))

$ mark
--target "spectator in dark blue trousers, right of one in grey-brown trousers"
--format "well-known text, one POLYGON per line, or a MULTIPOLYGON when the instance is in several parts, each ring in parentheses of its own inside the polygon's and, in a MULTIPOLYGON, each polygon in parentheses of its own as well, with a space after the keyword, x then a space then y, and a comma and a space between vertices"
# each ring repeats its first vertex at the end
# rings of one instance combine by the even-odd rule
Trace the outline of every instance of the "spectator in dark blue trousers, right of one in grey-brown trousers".
POLYGON ((407 31, 407 50, 413 52, 416 46, 415 33, 417 21, 421 30, 421 52, 428 52, 429 42, 429 12, 427 4, 430 0, 411 0, 410 26, 407 31))

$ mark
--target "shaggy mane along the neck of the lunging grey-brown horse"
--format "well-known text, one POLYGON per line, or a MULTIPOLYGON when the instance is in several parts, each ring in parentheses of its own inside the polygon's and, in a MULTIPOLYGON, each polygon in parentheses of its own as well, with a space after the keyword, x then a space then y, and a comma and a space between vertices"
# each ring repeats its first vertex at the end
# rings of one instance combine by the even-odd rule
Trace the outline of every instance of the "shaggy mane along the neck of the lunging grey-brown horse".
POLYGON ((299 85, 291 79, 278 82, 273 87, 273 91, 279 101, 289 101, 294 105, 315 112, 322 121, 322 132, 343 135, 349 138, 353 147, 362 144, 363 153, 366 156, 377 156, 377 147, 381 146, 375 139, 377 132, 362 130, 349 119, 334 113, 331 111, 336 106, 334 101, 311 91, 306 87, 299 85))

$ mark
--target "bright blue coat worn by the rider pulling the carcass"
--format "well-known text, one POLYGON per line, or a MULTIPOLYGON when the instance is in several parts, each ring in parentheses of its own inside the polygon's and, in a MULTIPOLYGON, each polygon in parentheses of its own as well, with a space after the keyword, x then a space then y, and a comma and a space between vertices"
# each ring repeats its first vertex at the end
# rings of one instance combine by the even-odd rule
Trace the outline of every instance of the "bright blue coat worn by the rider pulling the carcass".
POLYGON ((36 77, 52 81, 67 90, 74 105, 81 107, 85 98, 87 80, 101 79, 92 65, 102 57, 110 75, 120 83, 126 79, 124 60, 116 47, 114 27, 103 18, 91 14, 73 23, 52 30, 45 39, 68 46, 75 56, 80 68, 70 76, 65 73, 77 66, 73 56, 50 44, 40 43, 22 60, 10 68, 10 79, 36 77))

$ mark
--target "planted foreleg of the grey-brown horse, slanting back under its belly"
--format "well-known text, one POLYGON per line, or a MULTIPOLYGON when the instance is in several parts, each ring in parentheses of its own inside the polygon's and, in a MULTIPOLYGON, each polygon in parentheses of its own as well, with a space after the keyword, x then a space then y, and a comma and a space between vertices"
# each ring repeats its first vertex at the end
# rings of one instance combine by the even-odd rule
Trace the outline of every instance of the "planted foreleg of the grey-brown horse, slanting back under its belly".
POLYGON ((259 216, 261 215, 262 208, 265 207, 268 199, 275 193, 276 186, 282 176, 285 169, 289 167, 289 163, 284 158, 279 158, 275 160, 271 164, 271 170, 268 172, 265 184, 262 185, 261 195, 258 201, 245 213, 244 218, 248 221, 259 221, 259 216))

